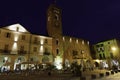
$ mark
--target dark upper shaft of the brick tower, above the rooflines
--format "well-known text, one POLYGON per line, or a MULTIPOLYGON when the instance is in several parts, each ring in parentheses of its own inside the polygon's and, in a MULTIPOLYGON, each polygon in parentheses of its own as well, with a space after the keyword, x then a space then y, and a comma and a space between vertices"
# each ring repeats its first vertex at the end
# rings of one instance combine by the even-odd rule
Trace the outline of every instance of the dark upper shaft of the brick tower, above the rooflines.
POLYGON ((47 32, 50 37, 62 35, 61 9, 55 3, 47 10, 47 32))

